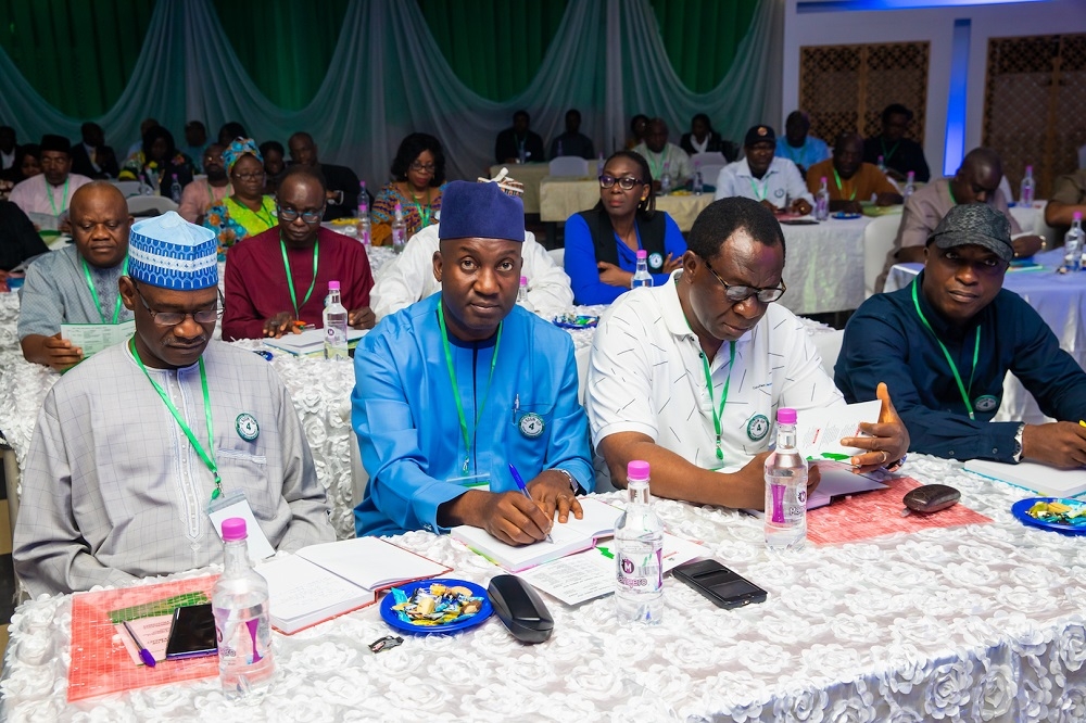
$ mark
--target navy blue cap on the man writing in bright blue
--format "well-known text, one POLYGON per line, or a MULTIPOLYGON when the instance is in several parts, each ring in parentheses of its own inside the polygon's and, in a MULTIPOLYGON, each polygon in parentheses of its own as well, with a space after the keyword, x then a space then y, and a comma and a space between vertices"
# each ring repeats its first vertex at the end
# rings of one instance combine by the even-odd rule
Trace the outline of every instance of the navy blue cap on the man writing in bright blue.
POLYGON ((525 240, 525 204, 497 183, 452 181, 441 194, 439 239, 525 240))

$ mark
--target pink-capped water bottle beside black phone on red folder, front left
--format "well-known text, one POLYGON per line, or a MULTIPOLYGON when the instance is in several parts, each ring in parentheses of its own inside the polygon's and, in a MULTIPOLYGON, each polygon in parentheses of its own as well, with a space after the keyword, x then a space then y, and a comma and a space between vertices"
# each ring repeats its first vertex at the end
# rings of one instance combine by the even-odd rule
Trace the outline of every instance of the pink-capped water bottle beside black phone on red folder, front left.
POLYGON ((228 700, 255 706, 275 680, 268 584, 249 561, 245 521, 223 520, 224 570, 211 593, 218 677, 228 700))

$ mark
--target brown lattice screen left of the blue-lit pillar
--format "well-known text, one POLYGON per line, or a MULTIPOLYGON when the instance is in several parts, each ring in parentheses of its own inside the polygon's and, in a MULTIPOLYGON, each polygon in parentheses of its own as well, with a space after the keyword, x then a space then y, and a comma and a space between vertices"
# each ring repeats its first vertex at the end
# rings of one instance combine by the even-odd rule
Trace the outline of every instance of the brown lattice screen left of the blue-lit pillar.
POLYGON ((807 46, 799 49, 799 106, 811 135, 833 145, 837 134, 864 138, 882 130, 882 111, 901 103, 913 112, 908 137, 924 142, 926 42, 807 46))

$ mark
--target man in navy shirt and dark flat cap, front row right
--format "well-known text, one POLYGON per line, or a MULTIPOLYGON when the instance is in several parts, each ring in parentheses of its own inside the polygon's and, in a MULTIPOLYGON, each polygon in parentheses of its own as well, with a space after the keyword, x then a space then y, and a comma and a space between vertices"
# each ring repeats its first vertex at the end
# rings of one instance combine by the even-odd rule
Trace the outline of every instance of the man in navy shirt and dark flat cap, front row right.
POLYGON ((954 459, 1086 465, 1086 372, 1027 302, 1002 289, 1014 257, 1007 216, 957 205, 925 246, 906 289, 875 294, 845 327, 834 379, 849 402, 886 382, 911 449, 954 459), (1014 373, 1050 424, 994 422, 1014 373))

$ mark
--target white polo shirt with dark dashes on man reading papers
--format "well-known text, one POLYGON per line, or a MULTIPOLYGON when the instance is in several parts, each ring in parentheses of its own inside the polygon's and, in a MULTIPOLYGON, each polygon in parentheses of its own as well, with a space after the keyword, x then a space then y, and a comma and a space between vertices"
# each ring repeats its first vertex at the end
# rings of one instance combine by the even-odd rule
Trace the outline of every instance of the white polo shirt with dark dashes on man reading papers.
POLYGON ((793 407, 801 417, 804 409, 844 406, 803 324, 770 304, 735 342, 734 368, 728 342, 709 365, 718 407, 731 375, 721 419, 724 459, 718 460, 702 347, 675 289, 681 275, 623 294, 601 319, 585 398, 594 446, 610 434, 640 432, 697 467, 742 466, 775 442, 778 407, 793 407))

